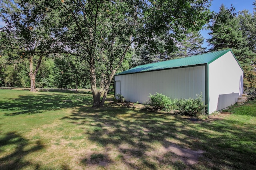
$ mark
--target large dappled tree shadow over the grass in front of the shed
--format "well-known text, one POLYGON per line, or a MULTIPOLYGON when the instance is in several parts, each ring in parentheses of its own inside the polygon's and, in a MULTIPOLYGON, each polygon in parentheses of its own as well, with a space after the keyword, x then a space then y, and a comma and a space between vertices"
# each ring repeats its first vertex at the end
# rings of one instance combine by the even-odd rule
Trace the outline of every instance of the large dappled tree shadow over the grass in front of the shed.
MULTIPOLYGON (((122 163, 133 169, 256 167, 256 132, 236 126, 239 121, 224 119, 195 123, 168 114, 113 105, 100 109, 80 108, 63 119, 84 127, 88 139, 105 148, 104 152, 100 152, 103 160, 110 157, 109 150, 118 150, 116 159, 119 157, 122 163), (188 158, 168 150, 170 146, 180 150, 200 149, 204 151, 204 156, 197 164, 188 164, 188 158), (157 150, 161 149, 166 151, 158 153, 157 150)), ((94 165, 90 155, 83 160, 86 160, 81 161, 86 166, 94 165)), ((108 164, 111 162, 106 166, 108 164)))

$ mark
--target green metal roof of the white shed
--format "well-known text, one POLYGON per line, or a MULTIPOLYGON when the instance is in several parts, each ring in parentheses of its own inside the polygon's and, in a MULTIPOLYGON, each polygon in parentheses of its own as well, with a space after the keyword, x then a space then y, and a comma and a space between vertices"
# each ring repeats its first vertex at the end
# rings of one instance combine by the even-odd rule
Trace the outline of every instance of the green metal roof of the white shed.
MULTIPOLYGON (((232 52, 231 49, 225 49, 225 50, 221 50, 221 51, 214 51, 214 52, 194 55, 191 57, 172 59, 172 60, 162 61, 162 62, 158 62, 158 63, 140 65, 140 66, 128 69, 126 71, 122 71, 121 73, 117 73, 116 75, 141 73, 141 72, 147 72, 147 71, 157 71, 157 70, 171 69, 171 68, 177 68, 177 67, 188 67, 188 66, 192 66, 192 65, 210 64, 214 60, 216 60, 219 57, 221 57, 222 55, 226 54, 228 51, 232 52)), ((232 54, 234 55, 233 52, 232 52, 232 54)), ((234 58, 236 59, 235 55, 234 55, 234 58)), ((237 61, 237 59, 236 59, 236 61, 237 61)), ((241 69, 242 69, 242 67, 241 67, 241 69)))

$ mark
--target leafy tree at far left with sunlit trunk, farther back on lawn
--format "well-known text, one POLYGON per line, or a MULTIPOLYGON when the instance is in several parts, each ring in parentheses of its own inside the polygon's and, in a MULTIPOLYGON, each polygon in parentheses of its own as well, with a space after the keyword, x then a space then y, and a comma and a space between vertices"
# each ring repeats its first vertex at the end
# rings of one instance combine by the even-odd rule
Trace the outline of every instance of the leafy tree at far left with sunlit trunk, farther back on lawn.
POLYGON ((50 11, 43 1, 33 0, 1 0, 0 17, 6 23, 1 28, 6 33, 6 51, 12 51, 10 57, 27 58, 30 62, 30 91, 36 91, 36 73, 42 57, 51 53, 53 44, 50 34, 50 11), (16 53, 13 53, 15 51, 16 53), (36 68, 33 59, 38 57, 36 68))

